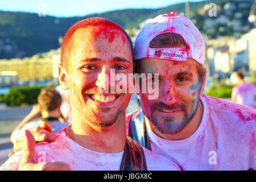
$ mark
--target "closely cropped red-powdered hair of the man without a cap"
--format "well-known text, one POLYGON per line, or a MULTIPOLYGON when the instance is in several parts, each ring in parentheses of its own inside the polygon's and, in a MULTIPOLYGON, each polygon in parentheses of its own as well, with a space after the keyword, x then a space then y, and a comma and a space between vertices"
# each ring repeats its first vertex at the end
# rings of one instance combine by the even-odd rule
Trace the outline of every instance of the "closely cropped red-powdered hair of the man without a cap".
POLYGON ((121 30, 129 42, 129 45, 131 48, 131 53, 134 57, 133 43, 131 42, 131 39, 130 39, 129 35, 127 34, 127 32, 125 30, 123 30, 123 28, 121 26, 119 26, 117 23, 114 23, 105 18, 100 18, 100 17, 88 18, 88 19, 84 19, 84 20, 81 20, 80 22, 73 24, 73 26, 69 28, 69 30, 66 32, 66 34, 64 36, 63 43, 61 45, 60 63, 61 63, 61 65, 63 65, 64 68, 67 69, 67 71, 68 71, 68 67, 69 67, 69 65, 68 65, 68 55, 69 55, 68 46, 71 43, 71 39, 72 39, 72 36, 75 33, 75 31, 79 30, 80 28, 86 28, 88 26, 102 26, 102 25, 108 25, 111 27, 115 27, 118 30, 121 30))

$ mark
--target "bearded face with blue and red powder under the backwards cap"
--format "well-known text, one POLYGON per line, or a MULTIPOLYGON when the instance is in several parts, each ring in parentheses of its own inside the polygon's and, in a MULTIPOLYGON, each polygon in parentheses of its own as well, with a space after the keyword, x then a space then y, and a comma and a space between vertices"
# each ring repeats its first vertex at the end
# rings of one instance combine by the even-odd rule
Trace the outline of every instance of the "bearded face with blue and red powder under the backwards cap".
POLYGON ((201 80, 196 61, 142 59, 139 73, 159 74, 159 97, 156 100, 148 100, 148 93, 140 92, 146 117, 162 134, 182 131, 196 114, 199 104, 201 80))

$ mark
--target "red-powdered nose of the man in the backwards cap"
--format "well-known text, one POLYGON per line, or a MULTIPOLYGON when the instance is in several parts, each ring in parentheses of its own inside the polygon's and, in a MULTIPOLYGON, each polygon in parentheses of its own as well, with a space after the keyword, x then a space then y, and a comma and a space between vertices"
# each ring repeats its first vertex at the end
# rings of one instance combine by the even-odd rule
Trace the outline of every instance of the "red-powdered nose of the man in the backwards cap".
POLYGON ((164 84, 162 96, 159 97, 159 100, 166 105, 172 105, 177 102, 176 92, 170 80, 164 84))

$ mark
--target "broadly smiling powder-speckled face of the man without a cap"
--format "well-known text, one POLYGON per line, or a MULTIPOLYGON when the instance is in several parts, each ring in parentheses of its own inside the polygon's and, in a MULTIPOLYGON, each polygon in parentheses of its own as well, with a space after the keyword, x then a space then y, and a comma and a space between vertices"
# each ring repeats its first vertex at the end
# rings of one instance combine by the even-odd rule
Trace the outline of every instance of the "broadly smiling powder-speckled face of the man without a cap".
MULTIPOLYGON (((129 93, 110 90, 110 69, 115 74, 133 73, 133 57, 122 31, 110 26, 89 26, 77 30, 69 53, 68 86, 75 109, 95 126, 112 126, 129 104, 129 93), (108 77, 107 77, 108 76, 108 77)), ((128 78, 128 76, 127 76, 128 78)))

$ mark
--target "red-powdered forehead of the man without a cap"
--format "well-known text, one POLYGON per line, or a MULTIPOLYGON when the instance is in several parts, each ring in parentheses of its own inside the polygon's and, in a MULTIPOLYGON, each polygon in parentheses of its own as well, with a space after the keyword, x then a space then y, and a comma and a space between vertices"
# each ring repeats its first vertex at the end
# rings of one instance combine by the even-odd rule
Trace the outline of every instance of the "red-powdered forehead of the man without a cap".
POLYGON ((80 28, 74 32, 69 44, 69 66, 78 60, 97 57, 98 53, 112 55, 112 53, 119 52, 119 56, 132 59, 129 49, 129 41, 126 36, 115 27, 88 26, 80 28))

